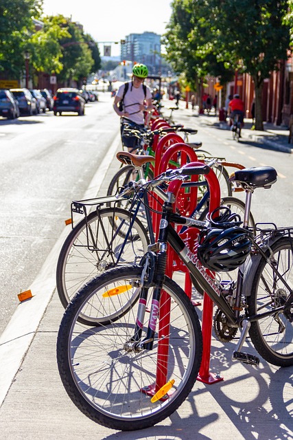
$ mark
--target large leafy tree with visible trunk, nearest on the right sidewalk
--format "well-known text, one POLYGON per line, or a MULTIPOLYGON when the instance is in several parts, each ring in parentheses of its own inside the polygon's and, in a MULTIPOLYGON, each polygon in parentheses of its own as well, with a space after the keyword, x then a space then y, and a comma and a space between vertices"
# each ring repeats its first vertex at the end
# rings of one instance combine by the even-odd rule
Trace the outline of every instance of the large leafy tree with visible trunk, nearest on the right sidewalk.
POLYGON ((211 0, 211 32, 215 50, 228 67, 247 72, 255 86, 255 128, 263 130, 263 81, 288 58, 288 0, 211 0))

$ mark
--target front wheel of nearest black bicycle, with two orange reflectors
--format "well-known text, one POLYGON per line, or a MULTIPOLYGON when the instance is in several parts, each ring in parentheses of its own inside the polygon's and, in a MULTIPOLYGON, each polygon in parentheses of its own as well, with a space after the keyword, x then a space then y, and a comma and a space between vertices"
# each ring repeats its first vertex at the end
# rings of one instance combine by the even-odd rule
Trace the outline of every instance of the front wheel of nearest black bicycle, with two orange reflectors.
POLYGON ((89 328, 78 322, 89 304, 95 304, 97 315, 103 313, 102 296, 113 301, 113 309, 119 307, 117 297, 135 296, 141 273, 141 267, 124 266, 94 278, 67 307, 58 333, 58 369, 69 397, 87 417, 116 430, 148 428, 171 415, 191 392, 202 357, 196 311, 167 277, 167 298, 160 304, 167 310, 158 318, 151 350, 139 349, 133 338, 137 319, 145 338, 152 288, 144 319, 137 314, 137 302, 108 325, 89 328), (112 292, 121 293, 109 296, 112 292))

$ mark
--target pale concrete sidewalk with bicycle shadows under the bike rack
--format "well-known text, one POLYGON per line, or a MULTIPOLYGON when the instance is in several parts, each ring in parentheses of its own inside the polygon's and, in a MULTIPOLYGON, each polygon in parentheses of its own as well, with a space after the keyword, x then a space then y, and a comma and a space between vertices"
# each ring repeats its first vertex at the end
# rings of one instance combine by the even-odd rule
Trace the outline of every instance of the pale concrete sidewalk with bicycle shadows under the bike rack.
MULTIPOLYGON (((211 118, 207 119, 212 121, 211 118)), ((110 161, 108 178, 116 166, 115 160, 110 161)), ((108 183, 107 178, 103 180, 100 195, 106 193, 108 183)), ((183 284, 182 275, 176 278, 183 284)), ((21 307, 30 308, 34 300, 21 307)), ((215 338, 212 338, 210 369, 224 377, 222 382, 196 382, 179 410, 153 428, 117 432, 97 425, 75 408, 60 382, 56 338, 63 311, 55 291, 0 407, 1 439, 293 439, 292 369, 278 369, 263 360, 258 369, 232 362, 235 344, 222 344, 215 338)), ((202 314, 202 305, 198 314, 202 314)), ((25 329, 22 331, 20 339, 25 336, 25 329)), ((256 354, 249 342, 245 350, 256 354)))

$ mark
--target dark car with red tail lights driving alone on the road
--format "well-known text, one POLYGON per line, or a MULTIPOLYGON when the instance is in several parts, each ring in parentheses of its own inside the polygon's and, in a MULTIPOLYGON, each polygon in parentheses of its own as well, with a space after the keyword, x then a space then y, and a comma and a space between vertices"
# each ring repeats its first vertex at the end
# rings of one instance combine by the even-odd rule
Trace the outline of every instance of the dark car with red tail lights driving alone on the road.
POLYGON ((78 115, 84 115, 85 100, 82 98, 78 89, 68 87, 67 89, 58 89, 54 96, 54 115, 60 115, 65 111, 73 111, 78 115))

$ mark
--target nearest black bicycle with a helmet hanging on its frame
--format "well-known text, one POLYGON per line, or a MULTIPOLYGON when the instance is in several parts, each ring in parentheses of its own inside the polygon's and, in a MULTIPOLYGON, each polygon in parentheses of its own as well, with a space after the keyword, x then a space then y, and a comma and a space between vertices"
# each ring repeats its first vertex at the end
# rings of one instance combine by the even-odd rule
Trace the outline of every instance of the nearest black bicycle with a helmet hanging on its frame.
MULTIPOLYGON (((152 185, 195 173, 208 177, 213 170, 191 163, 167 170, 152 185)), ((159 238, 140 264, 93 278, 67 307, 57 342, 60 377, 75 405, 97 423, 117 430, 152 426, 171 415, 196 382, 200 322, 183 289, 165 275, 174 258, 168 254, 167 259, 169 247, 218 307, 215 335, 228 342, 241 330, 233 360, 259 364, 259 358, 242 351, 249 333, 263 359, 293 365, 293 228, 257 223, 256 236, 248 228, 253 191, 270 188, 277 173, 271 167, 245 168, 231 179, 246 190, 243 225, 224 207, 209 214, 208 225, 181 216, 174 212, 170 184, 159 238), (188 225, 188 234, 180 236, 174 224, 179 230, 188 225), (223 275, 237 268, 237 281, 227 283, 223 275), (132 301, 127 311, 121 310, 126 298, 132 301), (104 299, 113 307, 107 325, 78 322, 88 307, 102 316, 104 299)))

